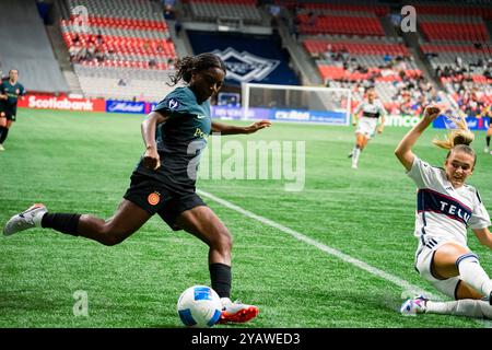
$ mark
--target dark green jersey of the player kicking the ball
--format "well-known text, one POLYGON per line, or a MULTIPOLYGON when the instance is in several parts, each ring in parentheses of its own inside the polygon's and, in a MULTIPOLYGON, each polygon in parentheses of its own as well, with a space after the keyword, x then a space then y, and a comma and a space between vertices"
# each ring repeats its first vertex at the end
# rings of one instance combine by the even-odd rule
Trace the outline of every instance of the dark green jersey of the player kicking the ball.
POLYGON ((175 192, 195 191, 200 155, 212 129, 210 103, 198 104, 188 86, 177 88, 154 110, 168 116, 155 132, 161 167, 152 171, 140 161, 137 172, 164 183, 175 192))

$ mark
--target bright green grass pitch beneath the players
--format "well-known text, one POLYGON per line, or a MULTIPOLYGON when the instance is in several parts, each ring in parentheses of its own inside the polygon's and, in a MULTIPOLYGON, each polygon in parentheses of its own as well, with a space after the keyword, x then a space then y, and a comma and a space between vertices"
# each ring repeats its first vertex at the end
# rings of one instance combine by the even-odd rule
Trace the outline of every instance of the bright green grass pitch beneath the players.
MULTIPOLYGON (((143 116, 21 109, 0 153, 0 223, 33 202, 54 212, 108 218, 143 151, 143 116)), ((233 121, 224 121, 233 122, 233 121)), ((234 121, 241 124, 239 121, 234 121)), ((424 290, 413 269, 415 188, 393 151, 408 129, 386 128, 350 167, 352 127, 274 124, 225 140, 305 141, 302 191, 284 180, 202 179, 198 188, 295 230, 424 290)), ((415 153, 434 165, 445 152, 429 129, 415 153)), ((482 153, 470 184, 492 208, 492 156, 482 153)), ((212 200, 231 230, 233 299, 260 307, 245 327, 420 328, 484 327, 470 318, 402 317, 400 287, 246 218, 212 200)), ((492 253, 469 232, 469 245, 492 273, 492 253)), ((178 295, 209 284, 207 246, 152 218, 124 243, 98 243, 54 231, 0 237, 0 327, 181 327, 178 295), (89 316, 74 316, 75 291, 85 291, 89 316)), ((221 328, 236 326, 216 326, 221 328)))

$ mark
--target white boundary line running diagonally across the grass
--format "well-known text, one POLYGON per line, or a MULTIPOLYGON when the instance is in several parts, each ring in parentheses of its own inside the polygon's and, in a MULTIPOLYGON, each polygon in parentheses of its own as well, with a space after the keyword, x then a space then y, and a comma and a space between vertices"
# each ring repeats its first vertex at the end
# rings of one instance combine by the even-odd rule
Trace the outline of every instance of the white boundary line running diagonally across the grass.
MULTIPOLYGON (((219 197, 216 197, 216 196, 214 196, 212 194, 206 192, 206 191, 200 190, 200 189, 197 189, 197 192, 200 196, 207 197, 207 198, 209 198, 209 199, 211 199, 211 200, 222 205, 223 207, 229 208, 231 210, 234 210, 234 211, 236 211, 236 212, 238 212, 238 213, 241 213, 241 214, 243 214, 243 215, 245 215, 245 217, 247 217, 249 219, 259 221, 262 224, 266 224, 268 226, 271 226, 271 228, 274 228, 277 230, 280 230, 280 231, 282 231, 282 232, 293 236, 294 238, 296 238, 296 240, 298 240, 301 242, 309 244, 309 245, 318 248, 321 252, 325 252, 325 253, 327 253, 327 254, 329 254, 331 256, 335 256, 335 257, 339 258, 340 260, 342 260, 344 262, 352 264, 353 266, 356 266, 358 268, 360 268, 360 269, 362 269, 364 271, 367 271, 371 275, 374 275, 374 276, 379 277, 379 278, 382 278, 384 280, 393 282, 394 284, 396 284, 396 285, 398 285, 398 287, 400 287, 402 289, 402 293, 401 293, 402 296, 405 295, 406 298, 411 298, 411 296, 413 296, 415 294, 425 294, 430 299, 442 300, 442 298, 436 295, 436 294, 433 294, 433 293, 430 293, 427 291, 424 291, 423 289, 421 289, 418 285, 414 285, 414 284, 412 284, 412 283, 410 283, 410 282, 408 282, 408 281, 406 281, 406 280, 403 280, 401 278, 398 278, 398 277, 396 277, 396 276, 394 276, 391 273, 388 273, 388 272, 385 272, 383 270, 379 270, 378 268, 375 268, 375 267, 373 267, 373 266, 371 266, 371 265, 368 265, 368 264, 366 264, 366 262, 364 262, 362 260, 355 259, 355 258, 351 257, 350 255, 347 255, 347 254, 344 254, 344 253, 342 253, 340 250, 331 248, 331 247, 327 246, 326 244, 323 244, 323 243, 320 243, 320 242, 318 242, 316 240, 313 240, 313 238, 306 236, 305 234, 302 234, 302 233, 300 233, 297 231, 289 229, 289 228, 286 228, 286 226, 284 226, 284 225, 282 225, 280 223, 277 223, 277 222, 274 222, 274 221, 272 221, 270 219, 267 219, 265 217, 257 215, 257 214, 255 214, 255 213, 253 213, 253 212, 250 212, 250 211, 248 211, 246 209, 241 208, 239 206, 233 205, 232 202, 226 201, 226 200, 224 200, 222 198, 219 198, 219 197)), ((475 319, 475 320, 478 322, 479 324, 482 324, 485 327, 492 327, 492 323, 490 320, 483 320, 483 319, 475 319)))

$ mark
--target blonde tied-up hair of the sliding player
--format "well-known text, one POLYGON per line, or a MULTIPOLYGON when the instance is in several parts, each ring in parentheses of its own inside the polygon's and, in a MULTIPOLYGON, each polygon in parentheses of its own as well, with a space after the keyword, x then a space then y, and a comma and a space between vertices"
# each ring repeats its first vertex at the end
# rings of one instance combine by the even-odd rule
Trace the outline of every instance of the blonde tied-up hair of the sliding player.
POLYGON ((432 142, 437 147, 449 150, 446 159, 449 158, 453 151, 465 152, 473 156, 475 164, 477 162, 477 153, 470 147, 470 143, 475 140, 475 135, 468 129, 465 114, 459 113, 457 117, 450 115, 447 117, 453 120, 457 129, 450 130, 446 135, 445 140, 434 139, 432 142))

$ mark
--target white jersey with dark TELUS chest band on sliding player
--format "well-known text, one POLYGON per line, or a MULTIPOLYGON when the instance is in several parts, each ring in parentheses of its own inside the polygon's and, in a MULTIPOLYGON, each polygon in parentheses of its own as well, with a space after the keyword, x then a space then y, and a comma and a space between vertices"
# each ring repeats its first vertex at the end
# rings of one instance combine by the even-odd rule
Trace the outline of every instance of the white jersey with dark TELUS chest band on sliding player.
POLYGON ((414 235, 421 244, 437 237, 467 245, 467 229, 491 225, 489 213, 473 186, 454 188, 444 168, 434 167, 415 156, 407 173, 419 188, 414 235))

